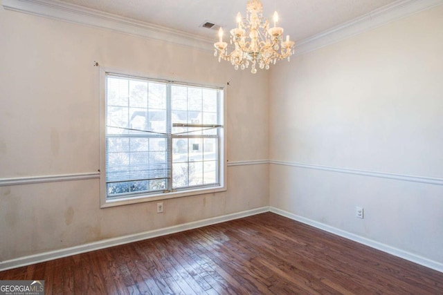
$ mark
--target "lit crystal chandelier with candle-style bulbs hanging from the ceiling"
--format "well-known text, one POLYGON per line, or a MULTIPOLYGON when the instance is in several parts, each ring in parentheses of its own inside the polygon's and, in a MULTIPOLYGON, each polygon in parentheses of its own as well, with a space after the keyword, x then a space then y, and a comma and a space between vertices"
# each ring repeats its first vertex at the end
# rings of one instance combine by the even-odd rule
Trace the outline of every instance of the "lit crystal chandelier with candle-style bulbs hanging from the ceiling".
POLYGON ((270 64, 293 55, 293 41, 289 35, 283 41, 283 28, 277 26, 278 14, 274 12, 273 27, 269 21, 263 19, 263 6, 260 0, 248 0, 246 4, 246 18, 237 14, 237 28, 230 30, 230 44, 235 48, 228 53, 228 44, 223 41, 223 29, 219 30, 219 41, 215 42, 214 56, 230 61, 235 70, 244 70, 251 65, 251 73, 257 73, 257 66, 269 69, 270 64))

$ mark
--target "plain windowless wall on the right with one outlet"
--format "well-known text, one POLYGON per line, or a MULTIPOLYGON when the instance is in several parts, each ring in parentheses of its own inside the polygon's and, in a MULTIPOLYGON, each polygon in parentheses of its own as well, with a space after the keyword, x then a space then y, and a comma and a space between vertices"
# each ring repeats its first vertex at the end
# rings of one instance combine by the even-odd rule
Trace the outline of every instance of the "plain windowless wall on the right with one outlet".
POLYGON ((271 206, 442 265, 442 53, 437 6, 274 68, 271 206))

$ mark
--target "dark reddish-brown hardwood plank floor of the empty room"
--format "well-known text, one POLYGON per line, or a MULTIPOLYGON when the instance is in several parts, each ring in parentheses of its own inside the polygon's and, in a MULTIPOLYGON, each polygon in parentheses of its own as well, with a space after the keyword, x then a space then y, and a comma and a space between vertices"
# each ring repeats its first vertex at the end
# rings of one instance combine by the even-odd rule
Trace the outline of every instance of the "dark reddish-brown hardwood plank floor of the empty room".
POLYGON ((443 294, 443 273, 273 213, 0 272, 45 294, 443 294))

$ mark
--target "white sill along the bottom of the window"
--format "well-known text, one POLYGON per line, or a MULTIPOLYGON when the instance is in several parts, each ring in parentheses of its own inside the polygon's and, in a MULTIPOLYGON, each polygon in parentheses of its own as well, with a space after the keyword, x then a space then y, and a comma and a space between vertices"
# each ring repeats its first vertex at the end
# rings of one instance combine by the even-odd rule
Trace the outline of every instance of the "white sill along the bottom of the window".
POLYGON ((223 186, 219 187, 211 187, 211 188, 204 188, 204 189, 193 189, 189 191, 174 191, 172 193, 157 193, 155 195, 142 195, 142 196, 136 196, 136 197, 124 197, 124 198, 114 198, 110 200, 105 200, 105 202, 102 202, 100 205, 100 208, 107 208, 107 207, 116 207, 116 206, 123 206, 127 204, 136 204, 141 202, 153 202, 153 201, 159 201, 159 200, 168 200, 168 199, 174 199, 174 198, 182 198, 182 197, 188 197, 188 196, 197 196, 197 195, 206 195, 208 193, 219 193, 221 191, 226 191, 227 188, 223 186))

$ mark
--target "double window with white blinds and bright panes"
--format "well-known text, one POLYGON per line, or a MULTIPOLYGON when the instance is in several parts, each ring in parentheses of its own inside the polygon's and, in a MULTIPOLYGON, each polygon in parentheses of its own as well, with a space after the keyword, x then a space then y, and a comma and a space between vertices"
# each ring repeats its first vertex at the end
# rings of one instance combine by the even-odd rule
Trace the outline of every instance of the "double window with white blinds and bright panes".
POLYGON ((102 206, 224 190, 222 88, 104 79, 102 206))

